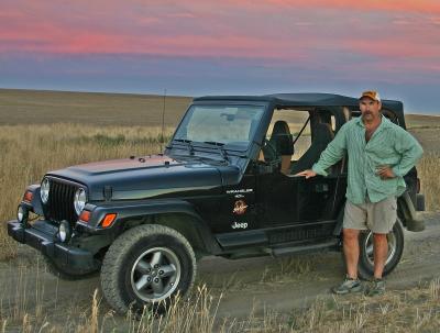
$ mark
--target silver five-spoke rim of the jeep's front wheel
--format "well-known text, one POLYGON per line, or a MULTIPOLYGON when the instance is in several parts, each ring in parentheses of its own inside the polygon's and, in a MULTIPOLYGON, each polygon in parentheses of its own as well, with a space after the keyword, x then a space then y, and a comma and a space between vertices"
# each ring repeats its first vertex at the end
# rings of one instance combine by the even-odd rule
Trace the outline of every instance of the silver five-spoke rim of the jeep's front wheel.
POLYGON ((180 263, 174 252, 165 247, 153 247, 134 262, 131 286, 143 301, 158 302, 176 290, 180 274, 180 263))

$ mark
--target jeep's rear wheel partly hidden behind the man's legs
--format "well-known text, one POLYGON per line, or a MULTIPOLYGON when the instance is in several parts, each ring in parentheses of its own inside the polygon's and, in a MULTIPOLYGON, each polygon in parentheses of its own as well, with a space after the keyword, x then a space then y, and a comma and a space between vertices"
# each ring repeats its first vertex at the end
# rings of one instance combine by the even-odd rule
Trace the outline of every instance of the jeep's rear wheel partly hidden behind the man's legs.
MULTIPOLYGON (((396 221, 387 235, 387 240, 388 256, 385 262, 383 276, 388 275, 396 268, 404 252, 404 229, 400 221, 396 221)), ((361 232, 359 236, 359 277, 362 279, 371 279, 374 275, 373 233, 371 231, 361 232)))

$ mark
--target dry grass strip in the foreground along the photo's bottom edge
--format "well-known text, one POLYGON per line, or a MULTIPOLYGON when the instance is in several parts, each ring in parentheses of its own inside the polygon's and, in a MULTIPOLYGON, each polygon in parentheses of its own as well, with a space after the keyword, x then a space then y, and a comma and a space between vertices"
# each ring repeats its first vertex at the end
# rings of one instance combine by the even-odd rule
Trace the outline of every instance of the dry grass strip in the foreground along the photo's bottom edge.
MULTIPOLYGON (((190 300, 177 298, 166 314, 157 315, 145 309, 142 314, 125 318, 102 304, 96 290, 87 306, 66 311, 54 306, 53 297, 41 287, 33 301, 26 297, 26 279, 35 268, 20 270, 15 303, 0 307, 1 332, 438 332, 440 326, 440 278, 407 290, 387 291, 367 298, 360 295, 317 298, 306 309, 278 313, 271 309, 256 314, 251 310, 244 318, 220 318, 218 309, 223 293, 213 296, 205 286, 195 288, 190 300)), ((41 268, 37 268, 41 269, 41 268)))

